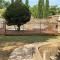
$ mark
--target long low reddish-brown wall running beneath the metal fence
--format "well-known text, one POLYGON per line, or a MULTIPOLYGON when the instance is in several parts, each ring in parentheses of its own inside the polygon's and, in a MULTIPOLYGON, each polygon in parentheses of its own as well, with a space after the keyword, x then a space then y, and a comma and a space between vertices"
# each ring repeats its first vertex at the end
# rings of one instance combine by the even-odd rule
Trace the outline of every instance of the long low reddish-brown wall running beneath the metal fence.
POLYGON ((34 29, 34 30, 5 30, 0 28, 0 35, 60 35, 56 31, 52 30, 43 30, 43 29, 34 29))

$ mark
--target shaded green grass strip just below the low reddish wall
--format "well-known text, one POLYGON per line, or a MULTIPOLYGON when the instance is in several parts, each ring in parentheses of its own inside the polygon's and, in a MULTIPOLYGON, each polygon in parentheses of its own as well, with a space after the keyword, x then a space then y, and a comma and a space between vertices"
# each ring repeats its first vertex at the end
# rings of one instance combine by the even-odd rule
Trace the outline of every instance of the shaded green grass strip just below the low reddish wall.
POLYGON ((26 43, 33 43, 33 42, 45 42, 50 38, 56 38, 56 36, 0 36, 0 41, 20 41, 26 43))

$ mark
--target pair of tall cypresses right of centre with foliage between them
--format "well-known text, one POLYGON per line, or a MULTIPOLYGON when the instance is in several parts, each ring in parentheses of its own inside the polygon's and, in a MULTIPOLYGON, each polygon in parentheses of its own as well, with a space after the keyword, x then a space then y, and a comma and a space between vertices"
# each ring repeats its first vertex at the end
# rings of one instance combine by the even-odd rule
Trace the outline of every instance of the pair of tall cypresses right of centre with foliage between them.
POLYGON ((47 18, 49 16, 49 0, 39 0, 38 18, 47 18))

